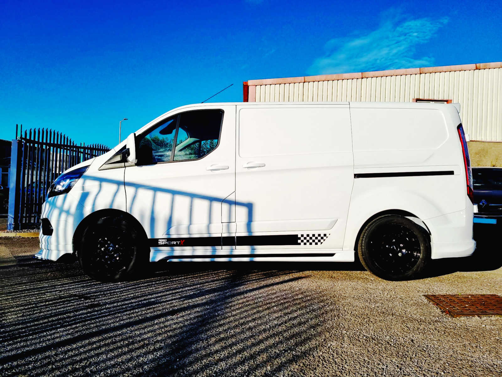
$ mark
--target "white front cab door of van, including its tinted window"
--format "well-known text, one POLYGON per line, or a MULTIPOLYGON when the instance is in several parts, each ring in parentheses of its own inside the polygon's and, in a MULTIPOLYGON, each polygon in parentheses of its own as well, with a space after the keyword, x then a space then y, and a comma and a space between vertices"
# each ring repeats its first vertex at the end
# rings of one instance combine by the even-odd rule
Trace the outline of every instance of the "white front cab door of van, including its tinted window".
POLYGON ((138 161, 124 174, 127 211, 143 225, 152 260, 221 250, 234 140, 235 106, 189 108, 136 136, 138 161))

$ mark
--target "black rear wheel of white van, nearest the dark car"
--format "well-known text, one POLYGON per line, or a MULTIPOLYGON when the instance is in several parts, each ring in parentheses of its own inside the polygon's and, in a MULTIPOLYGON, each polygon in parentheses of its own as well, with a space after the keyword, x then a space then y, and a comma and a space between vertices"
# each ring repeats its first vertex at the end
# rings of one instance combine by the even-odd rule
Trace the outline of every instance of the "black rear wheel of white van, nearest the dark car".
POLYGON ((357 251, 364 268, 376 276, 409 280, 419 276, 431 259, 431 242, 425 229, 410 219, 385 215, 366 225, 357 251))

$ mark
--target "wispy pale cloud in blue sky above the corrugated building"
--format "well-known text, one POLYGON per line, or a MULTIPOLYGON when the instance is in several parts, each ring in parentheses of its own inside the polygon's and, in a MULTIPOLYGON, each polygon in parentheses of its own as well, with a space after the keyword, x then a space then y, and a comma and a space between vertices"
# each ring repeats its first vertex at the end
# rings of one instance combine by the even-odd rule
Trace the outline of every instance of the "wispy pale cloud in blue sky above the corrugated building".
POLYGON ((428 42, 447 18, 412 19, 391 10, 382 15, 378 29, 357 37, 335 38, 326 43, 325 56, 309 68, 309 74, 364 72, 414 68, 433 64, 434 58, 414 57, 416 47, 428 42))

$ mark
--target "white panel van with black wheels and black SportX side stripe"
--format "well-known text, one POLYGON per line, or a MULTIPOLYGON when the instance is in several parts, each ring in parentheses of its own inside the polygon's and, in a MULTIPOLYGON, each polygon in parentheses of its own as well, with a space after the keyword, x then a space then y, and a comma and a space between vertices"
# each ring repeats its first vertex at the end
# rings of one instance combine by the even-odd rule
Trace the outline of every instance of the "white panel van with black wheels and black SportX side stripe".
POLYGON ((472 254, 456 108, 222 103, 172 110, 52 184, 38 258, 119 280, 143 262, 354 261, 408 279, 472 254))

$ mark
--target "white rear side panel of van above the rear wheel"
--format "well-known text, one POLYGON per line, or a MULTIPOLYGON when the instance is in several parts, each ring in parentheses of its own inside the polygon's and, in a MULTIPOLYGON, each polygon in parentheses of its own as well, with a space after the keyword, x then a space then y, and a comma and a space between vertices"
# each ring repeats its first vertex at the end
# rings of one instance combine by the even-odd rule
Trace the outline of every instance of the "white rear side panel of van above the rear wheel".
MULTIPOLYGON (((466 209, 456 109, 444 104, 350 103, 354 174, 453 171, 452 175, 354 179, 344 249, 376 213, 408 211, 427 220, 466 209)), ((468 200, 467 200, 468 202, 468 200)))

